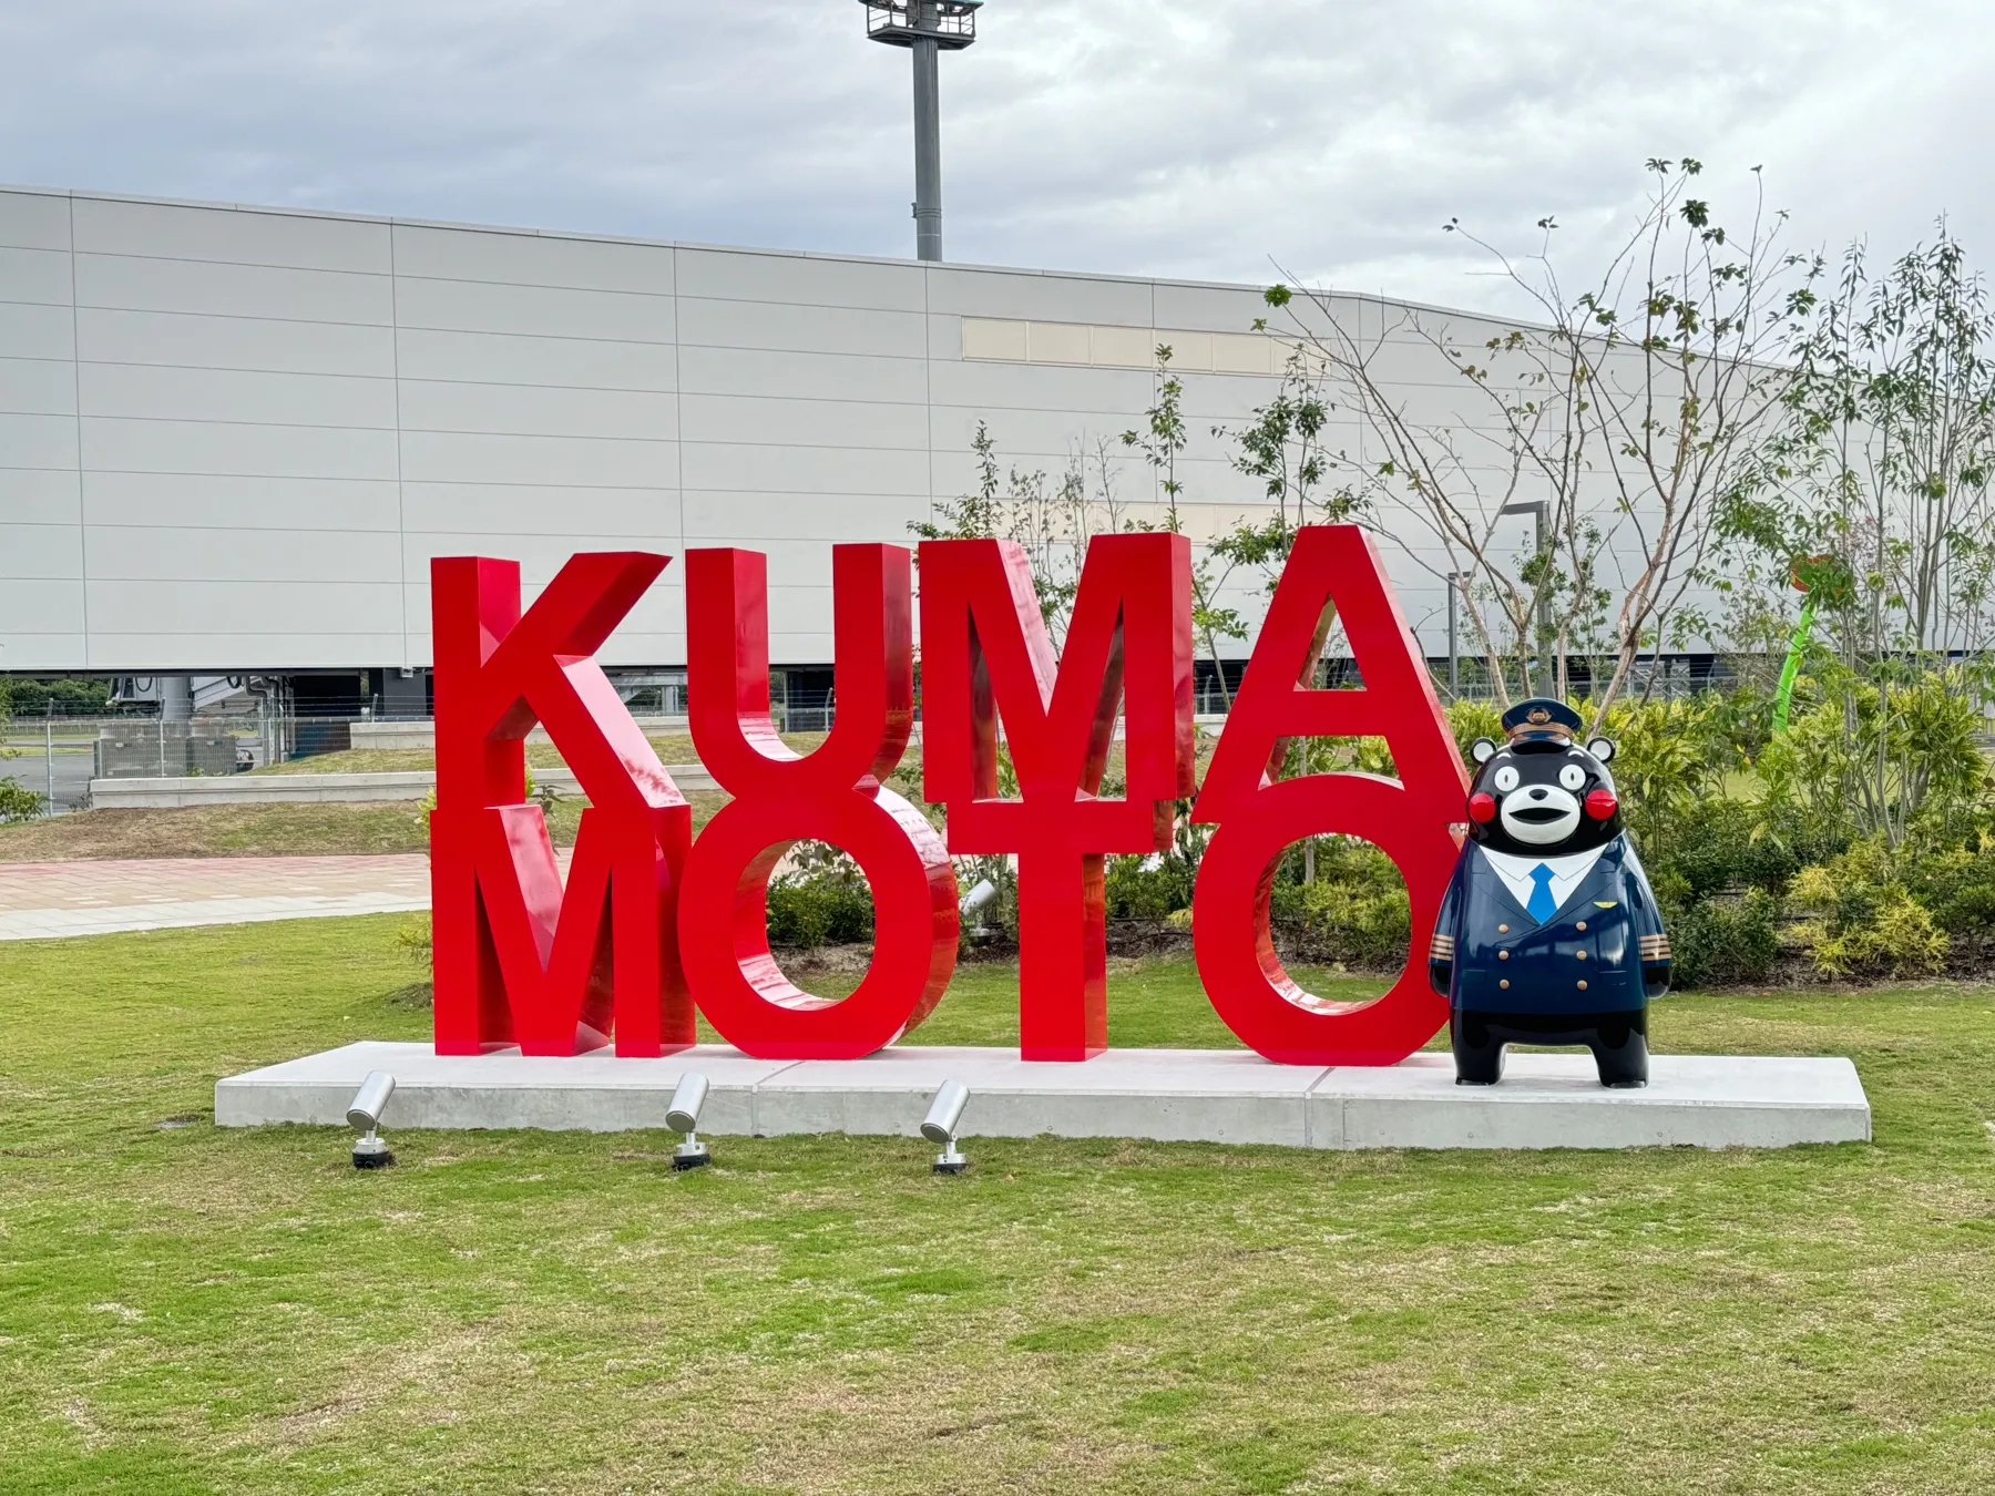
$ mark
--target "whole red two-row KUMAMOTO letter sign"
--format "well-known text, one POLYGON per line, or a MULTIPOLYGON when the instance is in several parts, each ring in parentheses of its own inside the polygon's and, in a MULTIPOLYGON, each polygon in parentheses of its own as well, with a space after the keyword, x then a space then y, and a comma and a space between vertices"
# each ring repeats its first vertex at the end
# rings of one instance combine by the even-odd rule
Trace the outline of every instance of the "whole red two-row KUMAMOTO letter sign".
MULTIPOLYGON (((686 555, 692 740, 734 796, 692 838, 684 796, 595 662, 668 561, 579 555, 525 616, 517 562, 431 562, 437 1051, 573 1055, 614 1039, 618 1055, 662 1055, 692 1043, 698 1009, 762 1059, 868 1055, 950 985, 950 854, 1001 852, 1017 858, 1021 1055, 1101 1053, 1103 856, 1167 850, 1175 804, 1195 788, 1189 543, 1097 537, 1057 662, 1015 545, 922 545, 922 792, 948 808, 946 842, 884 788, 914 724, 912 557, 892 545, 832 547, 838 718, 802 756, 768 714, 764 557, 686 555), (1099 788, 1117 708, 1127 794, 1113 800, 1099 788), (998 792, 999 714, 1017 796, 998 792), (535 722, 589 796, 567 888, 525 794, 535 722), (770 874, 806 838, 850 852, 872 886, 874 961, 840 1001, 792 985, 768 947, 770 874)), ((1391 1065, 1446 1023, 1412 957, 1454 868, 1466 788, 1371 539, 1349 525, 1301 531, 1193 808, 1215 828, 1191 908, 1199 977, 1247 1045, 1295 1065, 1391 1065), (1329 604, 1361 690, 1303 684, 1329 604), (1400 780, 1273 778, 1289 738, 1359 734, 1387 738, 1400 780), (1408 963, 1377 1001, 1313 997, 1269 937, 1283 848, 1329 832, 1375 842, 1406 880, 1408 963)))

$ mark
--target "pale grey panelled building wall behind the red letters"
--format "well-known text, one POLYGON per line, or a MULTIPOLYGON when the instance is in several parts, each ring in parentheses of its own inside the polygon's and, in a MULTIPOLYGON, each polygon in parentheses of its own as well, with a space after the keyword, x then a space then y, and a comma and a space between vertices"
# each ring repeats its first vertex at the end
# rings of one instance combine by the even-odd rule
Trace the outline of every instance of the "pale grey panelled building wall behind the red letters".
MULTIPOLYGON (((1187 527, 1261 507, 1213 435, 1277 391, 1261 311, 1257 287, 0 191, 0 670, 419 666, 435 555, 515 557, 531 590, 573 551, 698 545, 766 551, 772 658, 828 662, 828 547, 908 541, 974 487, 980 421, 1053 481, 1105 441, 1153 501, 1119 437, 1157 341, 1187 527)), ((1438 654, 1432 549, 1404 539, 1438 654)), ((602 654, 684 660, 676 564, 602 654)))

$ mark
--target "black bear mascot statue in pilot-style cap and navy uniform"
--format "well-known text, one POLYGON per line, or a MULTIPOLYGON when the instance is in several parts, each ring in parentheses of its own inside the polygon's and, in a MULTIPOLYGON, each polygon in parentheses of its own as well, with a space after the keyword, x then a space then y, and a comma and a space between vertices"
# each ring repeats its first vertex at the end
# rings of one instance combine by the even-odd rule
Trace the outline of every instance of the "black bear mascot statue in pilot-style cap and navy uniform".
POLYGON ((1526 700, 1506 742, 1476 740, 1468 840, 1426 975, 1448 999, 1454 1083, 1502 1079, 1506 1043, 1582 1043, 1602 1085, 1648 1083, 1648 1003, 1670 989, 1670 937, 1620 822, 1614 744, 1526 700))

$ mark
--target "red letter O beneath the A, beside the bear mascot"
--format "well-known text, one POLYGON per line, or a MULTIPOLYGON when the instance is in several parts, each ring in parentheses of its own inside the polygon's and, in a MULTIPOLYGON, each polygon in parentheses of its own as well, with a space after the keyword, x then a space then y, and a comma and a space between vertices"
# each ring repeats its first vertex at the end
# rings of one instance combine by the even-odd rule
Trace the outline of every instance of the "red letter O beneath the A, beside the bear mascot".
POLYGON ((1191 896, 1199 979, 1219 1017, 1245 1045, 1283 1065, 1396 1065, 1448 1021, 1446 997, 1426 983, 1424 951, 1456 852, 1446 824, 1416 814, 1396 780, 1309 774, 1255 792, 1213 832, 1191 896), (1325 834, 1363 836, 1406 880, 1406 967, 1373 1001, 1317 997, 1275 955, 1267 910, 1281 852, 1301 836, 1325 834))

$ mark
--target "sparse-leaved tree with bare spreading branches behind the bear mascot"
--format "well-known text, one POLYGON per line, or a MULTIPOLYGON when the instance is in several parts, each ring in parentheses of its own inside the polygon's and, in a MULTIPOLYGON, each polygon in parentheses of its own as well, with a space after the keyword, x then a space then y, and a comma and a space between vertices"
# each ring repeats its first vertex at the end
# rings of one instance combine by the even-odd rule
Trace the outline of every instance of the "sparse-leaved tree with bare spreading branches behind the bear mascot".
POLYGON ((1636 227, 1578 289, 1552 217, 1518 259, 1446 225, 1494 259, 1530 325, 1464 339, 1460 317, 1406 307, 1361 331, 1325 293, 1269 291, 1359 427, 1361 449, 1335 457, 1343 507, 1460 588, 1500 702, 1510 682, 1564 694, 1584 662, 1596 724, 1644 652, 1708 630, 1720 501, 1784 409, 1821 273, 1780 247, 1758 170, 1744 235, 1692 195, 1698 162, 1648 170, 1636 227), (1422 359, 1466 399, 1412 409, 1422 359))

